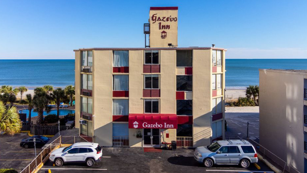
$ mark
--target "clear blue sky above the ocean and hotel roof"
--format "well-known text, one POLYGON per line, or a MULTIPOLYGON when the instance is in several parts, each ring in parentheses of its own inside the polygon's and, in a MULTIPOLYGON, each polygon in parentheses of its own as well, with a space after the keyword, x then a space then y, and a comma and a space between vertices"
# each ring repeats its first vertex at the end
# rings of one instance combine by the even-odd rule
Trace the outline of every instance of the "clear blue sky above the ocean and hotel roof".
POLYGON ((144 47, 150 6, 178 6, 178 44, 226 58, 307 58, 307 1, 0 1, 0 59, 68 59, 83 47, 144 47))

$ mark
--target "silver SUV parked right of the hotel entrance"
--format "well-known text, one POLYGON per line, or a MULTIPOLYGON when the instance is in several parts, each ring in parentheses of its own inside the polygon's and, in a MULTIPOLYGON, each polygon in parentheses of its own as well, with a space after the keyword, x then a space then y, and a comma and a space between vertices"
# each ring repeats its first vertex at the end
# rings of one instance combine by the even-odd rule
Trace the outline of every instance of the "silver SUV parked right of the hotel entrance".
POLYGON ((205 167, 214 164, 240 164, 247 168, 251 163, 257 163, 257 153, 251 143, 246 140, 223 140, 210 146, 197 147, 194 158, 205 167))

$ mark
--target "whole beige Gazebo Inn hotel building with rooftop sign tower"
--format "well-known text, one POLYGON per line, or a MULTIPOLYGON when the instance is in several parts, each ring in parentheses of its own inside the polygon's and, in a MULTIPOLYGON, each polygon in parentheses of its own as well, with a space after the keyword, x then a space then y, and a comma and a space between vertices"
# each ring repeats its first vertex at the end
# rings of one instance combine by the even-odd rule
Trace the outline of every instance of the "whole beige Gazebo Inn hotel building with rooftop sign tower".
POLYGON ((223 137, 226 50, 178 47, 177 19, 178 7, 150 7, 145 48, 74 50, 81 136, 106 147, 223 137))

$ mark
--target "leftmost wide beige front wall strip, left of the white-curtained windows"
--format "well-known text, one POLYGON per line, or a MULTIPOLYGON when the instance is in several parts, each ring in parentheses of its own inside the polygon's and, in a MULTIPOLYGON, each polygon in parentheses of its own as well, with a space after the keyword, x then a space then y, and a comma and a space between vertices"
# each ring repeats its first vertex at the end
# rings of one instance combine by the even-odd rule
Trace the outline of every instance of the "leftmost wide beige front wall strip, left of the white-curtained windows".
POLYGON ((112 146, 112 50, 94 51, 93 121, 95 142, 112 146))

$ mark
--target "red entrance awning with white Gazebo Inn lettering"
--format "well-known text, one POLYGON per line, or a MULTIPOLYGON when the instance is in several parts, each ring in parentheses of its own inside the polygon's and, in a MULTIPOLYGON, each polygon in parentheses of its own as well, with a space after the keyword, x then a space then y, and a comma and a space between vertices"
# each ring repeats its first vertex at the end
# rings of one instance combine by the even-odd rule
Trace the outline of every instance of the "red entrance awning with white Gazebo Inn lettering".
POLYGON ((176 114, 129 114, 130 129, 177 129, 176 114))

